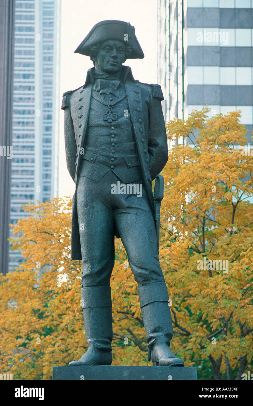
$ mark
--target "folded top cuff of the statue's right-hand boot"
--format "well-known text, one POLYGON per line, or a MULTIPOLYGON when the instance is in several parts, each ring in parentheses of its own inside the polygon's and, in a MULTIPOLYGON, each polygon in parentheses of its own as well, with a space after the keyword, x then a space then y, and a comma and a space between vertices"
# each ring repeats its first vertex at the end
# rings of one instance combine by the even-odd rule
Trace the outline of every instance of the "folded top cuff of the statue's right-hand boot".
POLYGON ((154 282, 139 287, 141 307, 152 302, 168 302, 169 294, 165 282, 154 282))

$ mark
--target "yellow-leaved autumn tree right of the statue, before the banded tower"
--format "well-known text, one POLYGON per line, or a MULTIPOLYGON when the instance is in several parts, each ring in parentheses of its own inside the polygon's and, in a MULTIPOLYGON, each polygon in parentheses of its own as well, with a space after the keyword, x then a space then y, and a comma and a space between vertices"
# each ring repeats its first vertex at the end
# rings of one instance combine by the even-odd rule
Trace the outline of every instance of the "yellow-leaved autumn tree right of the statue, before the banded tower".
POLYGON ((252 368, 253 151, 240 112, 194 111, 167 124, 161 265, 171 293, 173 345, 204 379, 252 368), (212 374, 210 375, 210 372, 212 374))

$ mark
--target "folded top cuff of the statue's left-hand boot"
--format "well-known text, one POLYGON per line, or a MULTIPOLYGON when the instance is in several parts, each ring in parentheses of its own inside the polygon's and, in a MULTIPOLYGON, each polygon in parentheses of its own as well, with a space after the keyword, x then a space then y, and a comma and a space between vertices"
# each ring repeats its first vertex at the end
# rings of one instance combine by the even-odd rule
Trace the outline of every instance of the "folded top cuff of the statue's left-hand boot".
POLYGON ((110 286, 88 286, 81 289, 82 308, 112 307, 110 286))

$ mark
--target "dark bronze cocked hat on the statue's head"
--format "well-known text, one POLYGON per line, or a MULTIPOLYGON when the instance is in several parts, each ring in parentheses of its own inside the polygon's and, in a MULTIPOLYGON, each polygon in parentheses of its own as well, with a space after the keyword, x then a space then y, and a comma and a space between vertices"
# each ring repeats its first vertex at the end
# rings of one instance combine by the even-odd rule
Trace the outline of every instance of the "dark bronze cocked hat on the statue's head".
POLYGON ((141 45, 135 36, 134 26, 131 26, 130 23, 126 23, 125 21, 118 20, 105 20, 95 24, 74 53, 91 56, 90 47, 104 42, 107 39, 117 39, 130 46, 132 52, 128 58, 144 58, 141 45))

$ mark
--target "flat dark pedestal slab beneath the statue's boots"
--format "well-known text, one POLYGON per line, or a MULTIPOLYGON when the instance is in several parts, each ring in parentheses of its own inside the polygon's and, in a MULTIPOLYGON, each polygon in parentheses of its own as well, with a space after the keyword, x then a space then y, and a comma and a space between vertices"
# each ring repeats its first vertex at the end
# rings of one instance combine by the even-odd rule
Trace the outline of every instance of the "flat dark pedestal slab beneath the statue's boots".
POLYGON ((56 380, 196 380, 196 367, 71 366, 53 367, 56 380))

